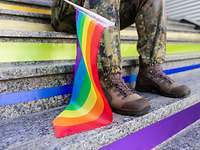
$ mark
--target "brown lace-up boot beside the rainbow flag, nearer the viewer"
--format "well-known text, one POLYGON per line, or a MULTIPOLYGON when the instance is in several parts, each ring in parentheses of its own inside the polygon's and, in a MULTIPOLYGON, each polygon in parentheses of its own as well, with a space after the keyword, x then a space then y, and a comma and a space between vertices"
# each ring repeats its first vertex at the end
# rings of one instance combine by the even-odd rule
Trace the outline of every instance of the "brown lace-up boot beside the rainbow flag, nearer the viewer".
POLYGON ((105 95, 115 113, 140 116, 146 114, 150 109, 149 102, 124 83, 120 72, 107 73, 107 76, 104 75, 101 82, 105 95))

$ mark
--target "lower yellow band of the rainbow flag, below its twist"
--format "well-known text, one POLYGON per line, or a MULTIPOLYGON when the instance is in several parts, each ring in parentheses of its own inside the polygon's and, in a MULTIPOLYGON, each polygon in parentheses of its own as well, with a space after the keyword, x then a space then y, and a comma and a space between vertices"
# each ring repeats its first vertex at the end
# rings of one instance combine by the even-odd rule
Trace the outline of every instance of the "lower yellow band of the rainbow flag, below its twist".
POLYGON ((87 115, 95 106, 97 96, 94 91, 94 87, 91 86, 90 94, 87 98, 88 100, 85 102, 83 107, 78 110, 64 110, 58 117, 65 118, 76 118, 87 115))

